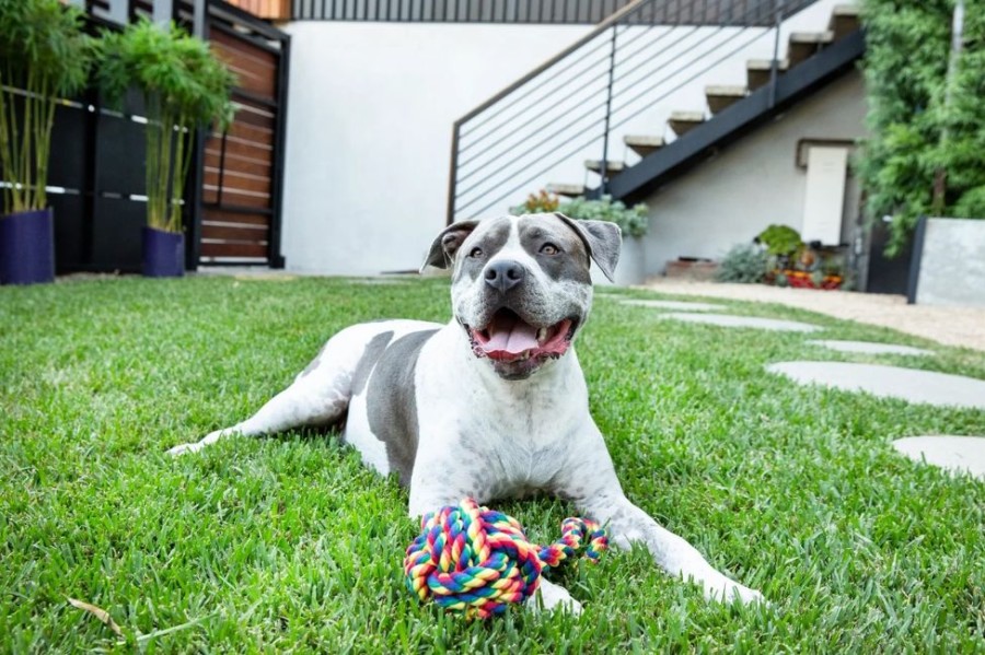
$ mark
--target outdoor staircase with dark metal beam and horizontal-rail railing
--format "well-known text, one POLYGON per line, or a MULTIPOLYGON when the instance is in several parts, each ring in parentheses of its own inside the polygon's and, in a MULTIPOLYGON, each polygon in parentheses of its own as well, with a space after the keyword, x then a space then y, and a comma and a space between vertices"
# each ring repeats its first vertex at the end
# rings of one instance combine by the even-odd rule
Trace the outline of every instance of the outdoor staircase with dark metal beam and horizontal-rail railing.
POLYGON ((842 74, 864 51, 855 5, 834 5, 824 31, 799 32, 784 22, 813 2, 708 4, 634 2, 456 121, 448 221, 517 204, 542 187, 641 198, 842 74), (757 58, 746 60, 744 84, 712 79, 722 62, 750 52, 757 58), (646 129, 648 110, 703 80, 705 106, 684 105, 661 130, 646 129), (630 129, 622 133, 622 159, 611 156, 630 129), (601 156, 577 160, 582 182, 545 185, 558 171, 570 176, 571 157, 592 150, 601 156))

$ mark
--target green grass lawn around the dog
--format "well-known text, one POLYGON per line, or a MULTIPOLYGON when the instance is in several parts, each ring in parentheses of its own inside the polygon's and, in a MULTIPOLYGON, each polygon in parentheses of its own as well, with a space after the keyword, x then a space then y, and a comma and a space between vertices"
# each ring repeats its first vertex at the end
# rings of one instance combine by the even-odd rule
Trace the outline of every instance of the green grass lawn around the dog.
MULTIPOLYGON (((985 353, 887 329, 732 304, 828 328, 810 338, 938 354, 828 352, 803 335, 659 320, 601 297, 578 341, 627 494, 770 607, 708 604, 647 553, 614 551, 553 575, 580 617, 468 623, 405 589, 417 531, 406 492, 336 436, 164 455, 256 410, 339 328, 443 321, 449 305, 442 280, 0 289, 0 651, 985 652, 985 484, 890 445, 985 434, 985 412, 763 372, 825 359, 985 378, 985 353), (68 597, 108 610, 124 636, 68 597)), ((541 541, 571 512, 547 499, 496 506, 541 541)))

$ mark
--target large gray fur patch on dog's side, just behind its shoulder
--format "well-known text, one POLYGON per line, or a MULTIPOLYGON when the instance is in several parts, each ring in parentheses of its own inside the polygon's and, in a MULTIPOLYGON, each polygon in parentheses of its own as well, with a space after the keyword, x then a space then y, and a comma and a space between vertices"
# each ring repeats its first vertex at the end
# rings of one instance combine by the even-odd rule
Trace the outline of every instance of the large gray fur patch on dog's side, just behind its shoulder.
POLYGON ((369 378, 366 395, 369 425, 386 446, 390 470, 401 484, 410 486, 417 456, 417 390, 414 373, 420 349, 438 330, 421 330, 401 337, 386 348, 369 378))

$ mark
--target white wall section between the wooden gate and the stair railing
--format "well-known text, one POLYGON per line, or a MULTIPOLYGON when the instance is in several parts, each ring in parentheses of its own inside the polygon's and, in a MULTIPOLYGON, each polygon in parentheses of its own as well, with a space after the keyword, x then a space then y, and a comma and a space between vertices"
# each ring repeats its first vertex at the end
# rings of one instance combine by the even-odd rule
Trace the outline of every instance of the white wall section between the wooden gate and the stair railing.
POLYGON ((288 269, 416 270, 444 226, 452 124, 590 30, 287 25, 288 269))

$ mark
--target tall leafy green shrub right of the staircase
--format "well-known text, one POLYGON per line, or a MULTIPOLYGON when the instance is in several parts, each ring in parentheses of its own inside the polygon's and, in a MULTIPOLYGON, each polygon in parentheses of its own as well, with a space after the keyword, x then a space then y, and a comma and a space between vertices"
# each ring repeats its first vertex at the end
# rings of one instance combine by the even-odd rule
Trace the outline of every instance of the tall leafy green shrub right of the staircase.
POLYGON ((954 0, 865 0, 862 9, 872 137, 856 166, 869 220, 893 219, 893 255, 920 215, 985 217, 985 0, 965 0, 950 82, 954 0))

